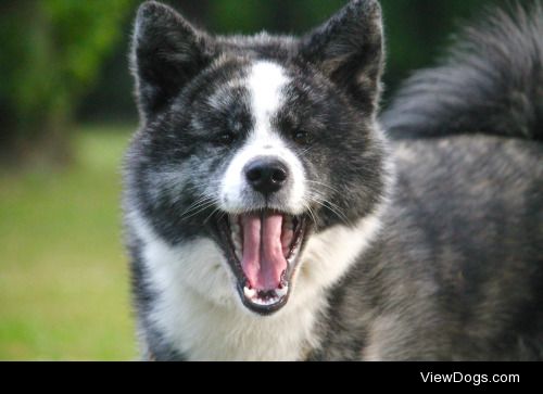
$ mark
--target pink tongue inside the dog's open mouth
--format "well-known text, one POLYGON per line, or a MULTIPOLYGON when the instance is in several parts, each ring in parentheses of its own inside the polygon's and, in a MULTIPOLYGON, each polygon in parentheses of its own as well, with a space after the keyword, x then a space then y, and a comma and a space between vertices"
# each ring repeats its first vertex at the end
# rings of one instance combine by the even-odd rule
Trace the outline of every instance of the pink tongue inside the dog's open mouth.
POLYGON ((243 215, 243 258, 241 266, 255 290, 275 290, 280 287, 287 259, 281 245, 282 215, 243 215))

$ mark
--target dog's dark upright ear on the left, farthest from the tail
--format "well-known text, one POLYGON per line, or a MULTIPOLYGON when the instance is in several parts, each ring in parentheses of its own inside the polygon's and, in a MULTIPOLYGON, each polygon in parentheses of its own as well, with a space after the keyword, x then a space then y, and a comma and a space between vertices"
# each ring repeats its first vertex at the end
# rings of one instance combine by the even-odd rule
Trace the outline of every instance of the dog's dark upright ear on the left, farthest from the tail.
POLYGON ((163 110, 180 89, 212 61, 212 39, 172 8, 140 5, 134 31, 131 67, 140 111, 163 110))

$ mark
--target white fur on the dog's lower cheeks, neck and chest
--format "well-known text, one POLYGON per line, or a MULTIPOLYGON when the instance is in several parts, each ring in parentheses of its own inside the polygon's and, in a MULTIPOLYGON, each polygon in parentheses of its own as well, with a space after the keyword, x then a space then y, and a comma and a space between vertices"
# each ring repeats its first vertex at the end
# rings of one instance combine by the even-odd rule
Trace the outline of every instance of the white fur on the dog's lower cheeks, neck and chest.
POLYGON ((193 360, 296 360, 318 347, 315 323, 326 291, 379 229, 377 215, 355 228, 337 226, 311 237, 288 304, 269 317, 249 313, 235 291, 229 267, 209 239, 172 247, 136 216, 149 284, 159 297, 151 321, 165 340, 193 360))

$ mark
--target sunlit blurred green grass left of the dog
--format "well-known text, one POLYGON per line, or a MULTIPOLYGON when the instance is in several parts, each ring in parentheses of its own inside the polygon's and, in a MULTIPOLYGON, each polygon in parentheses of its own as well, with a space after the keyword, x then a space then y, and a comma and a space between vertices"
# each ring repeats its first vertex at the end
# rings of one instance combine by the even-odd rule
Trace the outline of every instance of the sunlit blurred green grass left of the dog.
POLYGON ((84 128, 62 170, 0 174, 0 359, 134 359, 121 236, 128 128, 84 128))

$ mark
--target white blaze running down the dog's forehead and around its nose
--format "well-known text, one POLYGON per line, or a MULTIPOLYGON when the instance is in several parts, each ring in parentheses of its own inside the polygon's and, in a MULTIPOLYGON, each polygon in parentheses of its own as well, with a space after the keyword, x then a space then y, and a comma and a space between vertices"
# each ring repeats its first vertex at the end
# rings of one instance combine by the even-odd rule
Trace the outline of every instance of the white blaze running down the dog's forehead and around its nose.
MULTIPOLYGON (((260 61, 249 69, 245 80, 250 94, 250 110, 254 119, 253 128, 243 147, 232 157, 223 178, 220 195, 223 208, 239 212, 251 204, 254 194, 245 180, 244 166, 258 156, 272 156, 282 161, 290 174, 288 201, 282 209, 300 214, 304 211, 305 175, 298 156, 285 143, 275 129, 273 117, 286 105, 285 87, 290 82, 286 69, 279 64, 260 61)), ((254 201, 254 200, 253 200, 254 201)))

